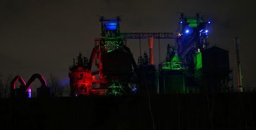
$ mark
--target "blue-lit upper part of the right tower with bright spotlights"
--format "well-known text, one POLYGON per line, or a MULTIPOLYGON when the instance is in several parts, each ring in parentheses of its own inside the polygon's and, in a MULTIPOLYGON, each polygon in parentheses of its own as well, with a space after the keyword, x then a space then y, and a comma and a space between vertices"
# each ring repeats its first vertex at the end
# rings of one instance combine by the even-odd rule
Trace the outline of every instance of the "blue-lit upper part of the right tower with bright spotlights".
POLYGON ((193 56, 208 48, 207 41, 210 22, 204 22, 197 13, 195 18, 187 18, 181 14, 177 33, 180 35, 176 39, 175 48, 180 59, 185 62, 188 68, 193 67, 193 56))

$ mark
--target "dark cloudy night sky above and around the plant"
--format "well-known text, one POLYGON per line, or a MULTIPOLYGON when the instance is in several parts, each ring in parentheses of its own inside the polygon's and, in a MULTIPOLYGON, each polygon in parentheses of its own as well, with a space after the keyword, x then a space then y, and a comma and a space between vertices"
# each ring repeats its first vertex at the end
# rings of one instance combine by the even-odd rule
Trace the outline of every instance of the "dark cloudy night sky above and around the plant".
MULTIPOLYGON (((215 44, 229 50, 234 86, 237 86, 233 37, 241 37, 243 85, 256 86, 255 80, 255 2, 254 1, 1 1, 0 2, 0 74, 19 74, 28 81, 34 73, 48 78, 52 72, 62 81, 68 79, 73 58, 81 51, 90 57, 94 38, 99 36, 96 15, 123 15, 121 32, 175 32, 179 14, 195 16, 203 12, 211 20, 215 44)), ((160 40, 161 59, 167 44, 160 40)), ((143 51, 148 52, 146 40, 143 51)), ((129 40, 128 47, 137 61, 139 41, 129 40)), ((158 64, 158 40, 154 40, 154 62, 158 64)))

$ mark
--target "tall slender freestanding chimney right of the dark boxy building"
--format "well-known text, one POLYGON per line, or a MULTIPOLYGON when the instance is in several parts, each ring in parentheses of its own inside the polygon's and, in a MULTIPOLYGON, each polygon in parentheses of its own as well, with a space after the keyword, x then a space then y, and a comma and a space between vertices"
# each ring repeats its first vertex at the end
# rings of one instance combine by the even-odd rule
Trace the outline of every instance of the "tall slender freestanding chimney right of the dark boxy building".
POLYGON ((239 54, 239 37, 234 37, 234 45, 236 46, 236 53, 237 53, 237 70, 238 70, 238 91, 243 92, 242 88, 242 73, 241 73, 241 61, 240 61, 240 54, 239 54))

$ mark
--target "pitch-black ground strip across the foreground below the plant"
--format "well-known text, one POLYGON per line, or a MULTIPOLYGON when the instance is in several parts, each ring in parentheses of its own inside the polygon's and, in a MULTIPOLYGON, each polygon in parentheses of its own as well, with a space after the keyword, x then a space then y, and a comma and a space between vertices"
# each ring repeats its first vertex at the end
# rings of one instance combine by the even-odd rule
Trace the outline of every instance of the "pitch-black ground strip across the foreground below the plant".
POLYGON ((253 129, 255 99, 256 93, 0 99, 0 129, 253 129))

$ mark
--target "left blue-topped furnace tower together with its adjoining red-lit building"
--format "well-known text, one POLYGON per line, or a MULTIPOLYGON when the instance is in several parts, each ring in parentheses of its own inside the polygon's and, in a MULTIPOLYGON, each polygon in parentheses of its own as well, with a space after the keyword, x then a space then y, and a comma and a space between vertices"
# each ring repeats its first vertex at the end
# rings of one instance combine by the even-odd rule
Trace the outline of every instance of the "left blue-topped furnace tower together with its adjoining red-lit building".
POLYGON ((101 34, 95 38, 90 60, 79 54, 77 63, 70 67, 72 96, 122 95, 131 91, 129 83, 137 65, 125 39, 120 34, 120 17, 100 17, 101 34), (93 63, 96 71, 91 71, 93 63), (97 78, 93 75, 97 75, 97 78))

